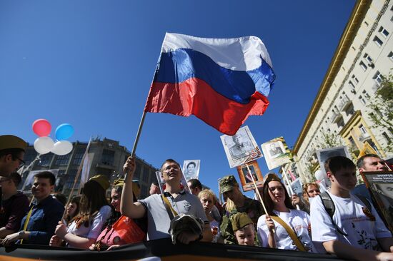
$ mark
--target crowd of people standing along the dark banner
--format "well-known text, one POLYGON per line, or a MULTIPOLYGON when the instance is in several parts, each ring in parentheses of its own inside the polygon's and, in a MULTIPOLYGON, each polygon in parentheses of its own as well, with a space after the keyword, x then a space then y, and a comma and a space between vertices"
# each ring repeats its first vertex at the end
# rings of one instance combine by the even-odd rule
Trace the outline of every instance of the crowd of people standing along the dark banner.
POLYGON ((110 184, 105 175, 94 175, 80 197, 69 200, 65 208, 52 195, 56 178, 49 171, 34 175, 32 200, 18 192, 21 176, 15 171, 24 163, 25 148, 24 140, 16 136, 0 136, 0 242, 5 246, 113 250, 130 242, 168 237, 175 244, 204 241, 330 253, 354 260, 393 260, 392 232, 379 217, 367 188, 357 186, 357 168, 387 170, 378 155, 364 155, 357 165, 343 156, 328 158, 324 168, 329 190, 321 193, 318 183, 306 183, 302 197, 289 196, 279 176, 268 173, 259 188, 261 198, 247 198, 236 178, 227 175, 219 182, 222 204, 197 179, 189 180, 188 193, 181 185, 180 165, 172 159, 161 165, 164 192, 153 183, 151 195, 139 199, 139 186, 133 180, 135 158, 130 157, 124 163, 125 178, 110 184))

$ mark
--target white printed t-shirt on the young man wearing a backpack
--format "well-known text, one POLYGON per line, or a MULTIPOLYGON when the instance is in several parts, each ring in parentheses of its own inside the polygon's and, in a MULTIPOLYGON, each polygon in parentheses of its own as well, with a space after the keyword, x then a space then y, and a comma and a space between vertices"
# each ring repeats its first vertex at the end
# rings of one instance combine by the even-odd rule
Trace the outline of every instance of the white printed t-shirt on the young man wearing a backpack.
POLYGON ((362 208, 364 210, 367 208, 357 196, 352 193, 350 198, 339 198, 332 195, 332 193, 329 193, 329 195, 332 197, 335 205, 333 220, 337 227, 347 235, 342 235, 336 231, 332 224, 332 219, 322 205, 321 198, 317 196, 311 203, 312 240, 316 244, 317 242, 339 240, 353 247, 379 250, 377 238, 392 237, 392 234, 387 230, 373 207, 371 211, 375 221, 371 221, 364 214, 362 208))

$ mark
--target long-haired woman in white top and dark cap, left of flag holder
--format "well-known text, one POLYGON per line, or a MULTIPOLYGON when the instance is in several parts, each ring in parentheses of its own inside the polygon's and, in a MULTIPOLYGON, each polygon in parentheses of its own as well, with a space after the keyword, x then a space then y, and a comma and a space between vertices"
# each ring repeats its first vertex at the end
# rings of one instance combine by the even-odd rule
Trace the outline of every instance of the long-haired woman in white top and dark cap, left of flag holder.
POLYGON ((111 207, 105 197, 109 180, 104 175, 95 175, 84 184, 80 212, 67 228, 59 222, 49 245, 61 245, 88 249, 96 242, 106 220, 111 216, 111 207))

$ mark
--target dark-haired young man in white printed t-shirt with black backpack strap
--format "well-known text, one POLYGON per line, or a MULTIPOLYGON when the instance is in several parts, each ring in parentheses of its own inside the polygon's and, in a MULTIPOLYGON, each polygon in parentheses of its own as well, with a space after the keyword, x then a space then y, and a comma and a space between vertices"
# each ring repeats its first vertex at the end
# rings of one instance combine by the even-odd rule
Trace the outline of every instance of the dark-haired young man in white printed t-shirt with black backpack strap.
POLYGON ((334 203, 332 218, 322 198, 311 203, 312 240, 338 257, 355 260, 393 260, 392 234, 377 211, 368 209, 362 200, 350 193, 357 183, 356 166, 343 156, 327 159, 324 164, 332 187, 327 191, 334 203), (385 251, 385 252, 381 252, 385 251))

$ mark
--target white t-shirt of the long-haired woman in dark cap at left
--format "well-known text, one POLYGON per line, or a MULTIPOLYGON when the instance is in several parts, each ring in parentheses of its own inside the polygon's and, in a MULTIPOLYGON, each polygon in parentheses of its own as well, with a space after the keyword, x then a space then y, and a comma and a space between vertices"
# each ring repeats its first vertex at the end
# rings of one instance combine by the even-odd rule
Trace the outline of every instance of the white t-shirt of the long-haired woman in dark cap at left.
MULTIPOLYGON (((94 238, 96 239, 99 234, 101 233, 102 226, 108 220, 108 218, 111 216, 111 207, 109 205, 104 205, 99 209, 99 212, 94 216, 93 222, 89 227, 85 227, 84 224, 82 224, 79 228, 76 228, 76 222, 72 222, 68 229, 67 232, 72 233, 74 235, 78 235, 79 237, 86 237, 86 238, 94 238)), ((73 247, 72 245, 69 245, 69 247, 73 247)))

